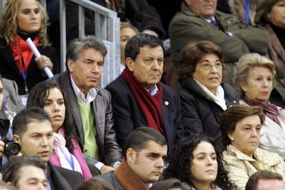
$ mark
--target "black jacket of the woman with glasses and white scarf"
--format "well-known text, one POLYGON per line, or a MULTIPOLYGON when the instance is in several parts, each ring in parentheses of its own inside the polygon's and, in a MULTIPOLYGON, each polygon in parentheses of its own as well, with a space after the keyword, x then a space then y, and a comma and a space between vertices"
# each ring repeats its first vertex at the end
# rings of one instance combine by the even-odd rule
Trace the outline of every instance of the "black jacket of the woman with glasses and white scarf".
MULTIPOLYGON (((222 83, 226 106, 238 104, 239 96, 229 84, 222 83)), ((192 76, 184 78, 179 90, 185 136, 202 133, 215 140, 221 137, 220 116, 224 110, 209 98, 192 76)))

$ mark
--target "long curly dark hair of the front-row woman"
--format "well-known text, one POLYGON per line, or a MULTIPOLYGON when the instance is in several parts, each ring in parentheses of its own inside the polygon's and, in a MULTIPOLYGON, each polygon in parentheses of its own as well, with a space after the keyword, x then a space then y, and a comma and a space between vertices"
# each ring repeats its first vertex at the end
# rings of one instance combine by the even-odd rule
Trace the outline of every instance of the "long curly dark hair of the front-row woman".
POLYGON ((178 178, 182 182, 187 182, 187 184, 195 187, 191 182, 193 174, 190 169, 193 160, 193 150, 196 149, 200 142, 211 143, 217 155, 218 175, 213 184, 217 185, 221 189, 236 189, 235 184, 229 180, 228 172, 224 169, 224 162, 222 160, 220 148, 211 138, 204 135, 191 134, 176 144, 173 154, 171 154, 168 159, 169 166, 165 171, 165 178, 178 178))

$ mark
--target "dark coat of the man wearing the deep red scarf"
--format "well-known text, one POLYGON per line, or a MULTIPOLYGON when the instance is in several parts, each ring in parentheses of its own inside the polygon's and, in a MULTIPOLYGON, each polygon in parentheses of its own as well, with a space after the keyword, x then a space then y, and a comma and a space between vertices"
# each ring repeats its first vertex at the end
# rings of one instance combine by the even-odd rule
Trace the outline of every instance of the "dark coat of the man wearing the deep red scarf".
MULTIPOLYGON (((106 89, 112 94, 114 129, 118 144, 124 146, 127 135, 134 129, 147 126, 138 102, 123 76, 118 76, 106 89)), ((168 151, 184 136, 181 123, 180 99, 175 90, 162 83, 161 114, 165 127, 168 151)))

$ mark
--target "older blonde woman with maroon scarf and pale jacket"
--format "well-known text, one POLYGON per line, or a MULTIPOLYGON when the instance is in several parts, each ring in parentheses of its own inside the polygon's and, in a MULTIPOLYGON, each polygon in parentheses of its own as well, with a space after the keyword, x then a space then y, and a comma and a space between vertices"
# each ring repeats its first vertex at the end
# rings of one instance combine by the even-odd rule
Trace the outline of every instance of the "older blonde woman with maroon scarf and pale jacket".
POLYGON ((237 63, 234 85, 240 94, 240 104, 258 105, 264 109, 260 148, 285 158, 285 109, 269 101, 274 73, 273 61, 260 54, 247 54, 237 63))

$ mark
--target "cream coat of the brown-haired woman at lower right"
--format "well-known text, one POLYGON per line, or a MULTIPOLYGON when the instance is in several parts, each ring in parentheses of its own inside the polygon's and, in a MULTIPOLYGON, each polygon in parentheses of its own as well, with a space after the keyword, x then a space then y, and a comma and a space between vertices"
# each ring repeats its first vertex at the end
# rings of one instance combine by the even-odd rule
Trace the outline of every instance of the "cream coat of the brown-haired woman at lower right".
POLYGON ((229 178, 237 185, 237 189, 245 189, 249 176, 262 169, 279 173, 285 179, 285 162, 276 153, 257 148, 253 153, 253 159, 233 145, 228 145, 222 154, 229 178))

